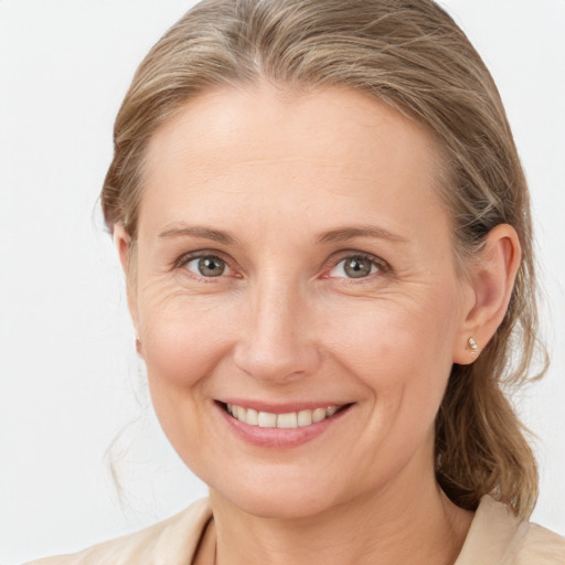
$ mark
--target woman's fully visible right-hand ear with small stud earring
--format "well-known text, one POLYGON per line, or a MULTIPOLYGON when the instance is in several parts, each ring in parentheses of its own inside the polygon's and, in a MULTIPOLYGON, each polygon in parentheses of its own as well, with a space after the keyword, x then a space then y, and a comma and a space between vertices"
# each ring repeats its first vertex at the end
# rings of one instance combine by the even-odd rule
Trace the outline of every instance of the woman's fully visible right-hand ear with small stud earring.
POLYGON ((454 347, 454 363, 472 363, 494 335, 507 313, 521 257, 512 226, 500 224, 489 232, 481 256, 468 267, 471 292, 454 347))

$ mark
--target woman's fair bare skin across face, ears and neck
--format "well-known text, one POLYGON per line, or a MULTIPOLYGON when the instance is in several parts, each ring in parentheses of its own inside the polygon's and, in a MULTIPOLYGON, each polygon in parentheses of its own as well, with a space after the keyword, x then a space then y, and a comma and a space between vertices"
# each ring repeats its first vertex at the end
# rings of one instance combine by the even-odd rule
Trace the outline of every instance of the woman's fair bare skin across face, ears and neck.
POLYGON ((348 89, 218 89, 152 136, 136 245, 115 237, 156 412, 210 486, 202 563, 456 559, 472 515, 435 481, 434 419, 452 363, 480 354, 468 338, 502 320, 520 247, 498 226, 458 268, 440 166, 426 130, 348 89), (226 426, 230 397, 352 406, 277 448, 226 426))

